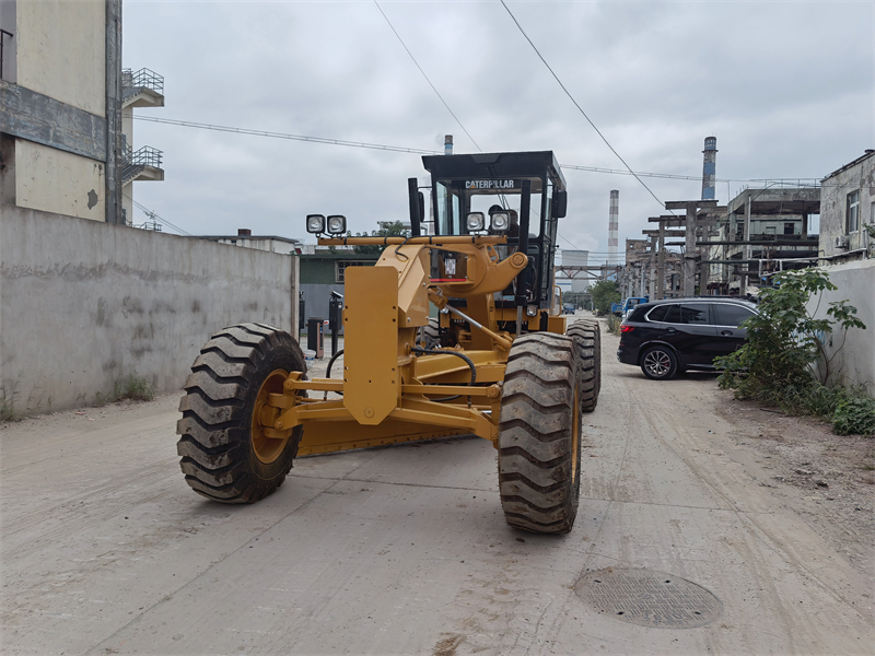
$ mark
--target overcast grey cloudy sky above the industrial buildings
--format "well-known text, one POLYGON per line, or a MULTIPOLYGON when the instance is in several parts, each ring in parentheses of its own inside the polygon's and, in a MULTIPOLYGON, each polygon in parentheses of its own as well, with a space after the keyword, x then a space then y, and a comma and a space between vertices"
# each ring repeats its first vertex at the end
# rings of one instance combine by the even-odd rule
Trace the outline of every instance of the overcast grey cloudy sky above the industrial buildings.
MULTIPOLYGON (((875 148, 871 0, 506 4, 629 166, 699 178, 642 177, 660 201, 700 198, 710 134, 724 203, 759 186, 742 180, 821 178, 875 148)), ((625 168, 499 0, 125 0, 122 17, 124 66, 164 77, 166 106, 142 116, 433 151, 454 134, 457 153, 625 168)), ((137 183, 135 199, 195 235, 305 238, 307 213, 370 231, 406 220, 406 180, 425 179, 418 154, 138 120, 147 144, 165 181, 137 183)), ((564 175, 560 246, 591 261, 606 257, 611 189, 620 244, 665 213, 632 176, 564 175)))

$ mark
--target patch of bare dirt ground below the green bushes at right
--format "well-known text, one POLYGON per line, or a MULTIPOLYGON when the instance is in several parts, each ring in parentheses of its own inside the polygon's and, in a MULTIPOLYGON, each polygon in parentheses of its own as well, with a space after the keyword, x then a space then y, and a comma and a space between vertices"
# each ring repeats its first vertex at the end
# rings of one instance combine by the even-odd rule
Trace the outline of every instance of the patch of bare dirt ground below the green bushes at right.
POLYGON ((715 411, 735 424, 730 437, 763 470, 771 488, 861 572, 873 573, 875 438, 835 435, 824 421, 716 391, 715 411))

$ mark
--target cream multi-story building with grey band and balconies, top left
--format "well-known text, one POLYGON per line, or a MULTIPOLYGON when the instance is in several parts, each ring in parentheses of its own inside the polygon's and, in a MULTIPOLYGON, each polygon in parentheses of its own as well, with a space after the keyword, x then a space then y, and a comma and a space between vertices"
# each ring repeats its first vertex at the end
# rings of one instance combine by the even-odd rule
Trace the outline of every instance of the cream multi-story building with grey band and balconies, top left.
POLYGON ((122 185, 163 172, 122 113, 163 95, 125 85, 121 0, 0 0, 0 202, 124 224, 122 185))

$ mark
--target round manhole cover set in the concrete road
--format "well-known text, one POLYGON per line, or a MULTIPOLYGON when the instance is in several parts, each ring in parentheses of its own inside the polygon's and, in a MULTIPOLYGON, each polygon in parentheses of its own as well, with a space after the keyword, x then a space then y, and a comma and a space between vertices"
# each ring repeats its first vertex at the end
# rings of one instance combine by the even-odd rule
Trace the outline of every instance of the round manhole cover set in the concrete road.
POLYGON ((691 629, 715 620, 723 606, 703 587, 649 570, 598 570, 574 591, 598 612, 641 626, 691 629))

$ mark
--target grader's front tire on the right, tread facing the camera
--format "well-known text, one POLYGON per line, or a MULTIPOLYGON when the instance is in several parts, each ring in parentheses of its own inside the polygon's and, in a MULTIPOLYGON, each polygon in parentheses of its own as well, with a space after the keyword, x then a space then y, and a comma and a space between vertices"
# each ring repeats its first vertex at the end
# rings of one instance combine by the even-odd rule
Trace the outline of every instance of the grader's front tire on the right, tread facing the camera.
POLYGON ((568 532, 581 487, 580 359, 573 339, 516 338, 508 359, 499 424, 504 518, 533 532, 568 532))

